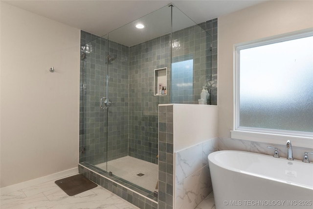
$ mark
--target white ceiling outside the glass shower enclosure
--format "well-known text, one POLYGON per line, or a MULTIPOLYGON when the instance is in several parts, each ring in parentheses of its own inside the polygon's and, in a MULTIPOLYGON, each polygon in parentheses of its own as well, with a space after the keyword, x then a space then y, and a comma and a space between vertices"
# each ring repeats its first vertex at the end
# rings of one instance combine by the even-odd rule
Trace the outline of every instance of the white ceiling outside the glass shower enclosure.
MULTIPOLYGON (((195 23, 229 14, 266 0, 2 0, 60 23, 103 36, 173 3, 195 23)), ((161 22, 161 18, 151 21, 161 22)), ((185 20, 183 22, 186 22, 185 20)), ((174 23, 173 23, 174 25, 174 23)), ((188 25, 189 26, 189 25, 188 25)), ((124 34, 130 37, 129 33, 124 34)), ((157 37, 157 36, 156 36, 157 37)), ((123 38, 121 38, 123 39, 123 38)), ((125 38, 124 38, 125 39, 125 38)), ((134 42, 135 43, 135 42, 134 42)), ((126 43, 134 46, 133 42, 126 43)))

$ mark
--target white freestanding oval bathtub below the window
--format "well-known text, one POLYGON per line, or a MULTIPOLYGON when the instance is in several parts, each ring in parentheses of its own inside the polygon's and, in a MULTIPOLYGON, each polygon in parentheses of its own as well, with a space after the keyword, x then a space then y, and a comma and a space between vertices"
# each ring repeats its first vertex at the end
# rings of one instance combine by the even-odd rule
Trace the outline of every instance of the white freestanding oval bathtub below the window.
POLYGON ((230 150, 208 160, 216 209, 313 208, 313 163, 230 150))

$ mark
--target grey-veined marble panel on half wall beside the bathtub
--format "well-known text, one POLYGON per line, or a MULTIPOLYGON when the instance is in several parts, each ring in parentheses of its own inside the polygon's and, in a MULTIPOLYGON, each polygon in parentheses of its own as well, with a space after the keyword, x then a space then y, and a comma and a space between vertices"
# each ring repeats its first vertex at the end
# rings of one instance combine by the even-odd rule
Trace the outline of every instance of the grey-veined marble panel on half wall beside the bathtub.
POLYGON ((213 190, 207 156, 217 146, 213 138, 175 153, 175 209, 196 208, 213 190))

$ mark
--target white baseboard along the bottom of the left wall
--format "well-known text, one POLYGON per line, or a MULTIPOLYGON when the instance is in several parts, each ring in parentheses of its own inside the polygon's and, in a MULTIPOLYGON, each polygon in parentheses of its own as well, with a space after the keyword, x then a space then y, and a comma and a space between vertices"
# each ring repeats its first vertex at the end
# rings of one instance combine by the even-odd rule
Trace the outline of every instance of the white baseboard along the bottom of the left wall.
POLYGON ((43 177, 40 177, 40 178, 37 178, 37 179, 32 179, 32 180, 29 180, 29 181, 26 181, 26 182, 21 182, 21 183, 16 184, 16 185, 11 185, 11 186, 6 186, 6 187, 3 187, 3 188, 0 188, 0 195, 8 194, 8 193, 11 193, 11 192, 14 192, 14 191, 18 191, 18 190, 21 190, 21 189, 24 189, 24 188, 27 188, 27 187, 30 187, 30 186, 39 185, 39 184, 42 184, 42 183, 45 183, 45 182, 61 179, 61 178, 64 178, 64 177, 67 177, 67 176, 71 176, 71 175, 74 175, 74 174, 78 174, 78 167, 71 168, 71 169, 68 169, 68 170, 65 170, 65 171, 61 171, 61 172, 58 172, 58 173, 54 173, 54 174, 51 174, 51 175, 48 175, 48 176, 43 176, 43 177))

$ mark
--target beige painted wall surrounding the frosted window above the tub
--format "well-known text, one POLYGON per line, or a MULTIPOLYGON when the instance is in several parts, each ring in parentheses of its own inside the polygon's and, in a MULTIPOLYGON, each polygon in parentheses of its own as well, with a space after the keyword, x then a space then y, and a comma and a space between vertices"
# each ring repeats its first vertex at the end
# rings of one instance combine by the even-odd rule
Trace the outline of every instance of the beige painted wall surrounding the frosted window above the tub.
POLYGON ((218 136, 233 129, 233 47, 313 27, 313 1, 268 1, 218 18, 218 136))

